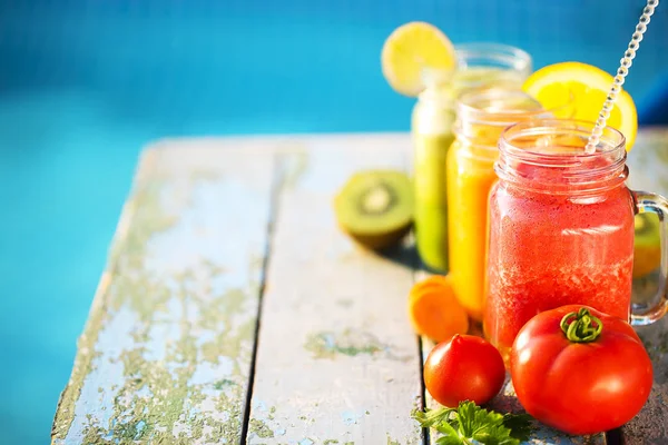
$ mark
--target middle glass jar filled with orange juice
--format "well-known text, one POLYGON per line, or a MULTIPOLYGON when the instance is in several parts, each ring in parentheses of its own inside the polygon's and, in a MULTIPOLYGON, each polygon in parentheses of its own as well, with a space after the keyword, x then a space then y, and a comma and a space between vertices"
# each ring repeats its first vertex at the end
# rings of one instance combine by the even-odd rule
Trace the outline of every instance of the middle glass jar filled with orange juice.
POLYGON ((497 181, 497 141, 509 125, 541 115, 547 116, 536 100, 514 89, 470 92, 458 103, 456 139, 446 161, 449 264, 455 294, 477 320, 483 313, 488 199, 497 181))

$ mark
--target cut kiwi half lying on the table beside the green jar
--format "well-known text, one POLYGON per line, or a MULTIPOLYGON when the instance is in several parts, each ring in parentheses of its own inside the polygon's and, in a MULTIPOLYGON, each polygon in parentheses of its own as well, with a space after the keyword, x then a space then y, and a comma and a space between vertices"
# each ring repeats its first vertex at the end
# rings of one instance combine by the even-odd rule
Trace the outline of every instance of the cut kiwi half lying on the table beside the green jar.
POLYGON ((396 244, 413 222, 411 180, 402 171, 354 174, 334 198, 341 228, 374 250, 396 244))

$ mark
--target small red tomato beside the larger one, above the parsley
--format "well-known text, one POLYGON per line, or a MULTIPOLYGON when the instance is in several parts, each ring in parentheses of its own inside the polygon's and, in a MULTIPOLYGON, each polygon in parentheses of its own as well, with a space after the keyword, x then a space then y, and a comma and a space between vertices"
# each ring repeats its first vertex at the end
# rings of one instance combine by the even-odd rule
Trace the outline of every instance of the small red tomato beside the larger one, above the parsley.
POLYGON ((482 405, 491 400, 505 380, 501 354, 483 338, 455 335, 438 344, 424 362, 424 386, 441 405, 456 407, 462 400, 482 405))

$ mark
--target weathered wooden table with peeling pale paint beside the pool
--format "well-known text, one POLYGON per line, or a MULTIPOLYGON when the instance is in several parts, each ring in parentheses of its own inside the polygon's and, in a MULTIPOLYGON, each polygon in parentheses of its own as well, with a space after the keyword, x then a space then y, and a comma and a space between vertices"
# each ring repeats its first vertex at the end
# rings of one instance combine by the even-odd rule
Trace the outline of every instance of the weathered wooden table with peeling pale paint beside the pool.
MULTIPOLYGON (((410 148, 396 134, 145 150, 52 443, 426 443, 410 417, 431 403, 430 345, 406 316, 415 254, 410 240, 387 256, 357 248, 332 210, 352 172, 409 169, 410 148)), ((668 130, 644 131, 629 164, 631 186, 668 194, 668 130)), ((621 434, 666 444, 668 319, 641 333, 656 385, 621 434)), ((511 388, 495 406, 518 408, 511 388)), ((544 427, 531 441, 605 442, 544 427)))

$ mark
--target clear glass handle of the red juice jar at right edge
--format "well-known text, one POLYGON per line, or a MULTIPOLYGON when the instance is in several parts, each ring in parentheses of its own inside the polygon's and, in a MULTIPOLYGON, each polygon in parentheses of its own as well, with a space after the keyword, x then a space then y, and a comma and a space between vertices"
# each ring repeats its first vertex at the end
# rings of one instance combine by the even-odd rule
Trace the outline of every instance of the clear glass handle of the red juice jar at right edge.
POLYGON ((659 266, 658 291, 646 304, 633 304, 631 325, 642 326, 655 323, 668 312, 668 199, 648 191, 631 191, 639 214, 654 212, 659 217, 659 236, 661 239, 661 263, 659 266))

